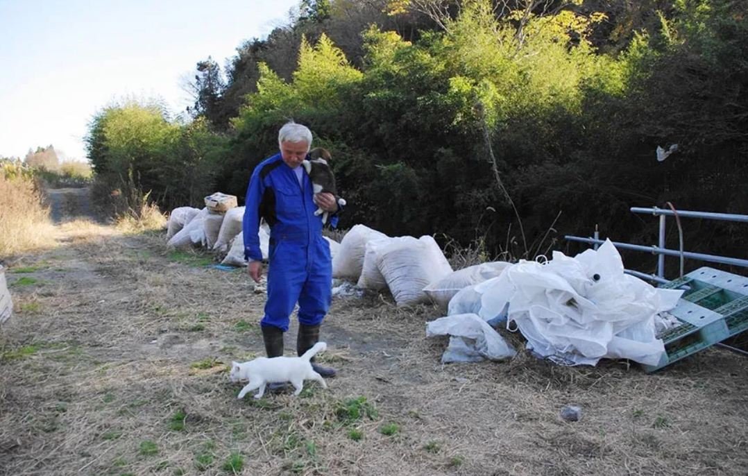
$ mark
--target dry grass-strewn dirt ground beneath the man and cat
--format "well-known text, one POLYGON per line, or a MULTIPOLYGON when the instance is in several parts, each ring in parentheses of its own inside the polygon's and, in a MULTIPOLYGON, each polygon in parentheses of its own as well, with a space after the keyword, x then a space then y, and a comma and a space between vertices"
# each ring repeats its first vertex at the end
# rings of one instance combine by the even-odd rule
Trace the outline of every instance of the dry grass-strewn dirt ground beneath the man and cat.
MULTIPOLYGON (((748 366, 710 350, 647 375, 610 362, 441 365, 428 306, 336 299, 300 397, 236 400, 265 297, 162 235, 69 229, 14 260, 0 329, 0 475, 736 475, 748 366), (559 418, 577 403, 576 423, 559 418), (391 433, 391 434, 390 434, 391 433), (232 460, 233 458, 233 460, 232 460), (239 469, 242 461, 242 469, 239 469), (232 464, 233 462, 233 464, 232 464)), ((295 326, 286 335, 294 345, 295 326)))

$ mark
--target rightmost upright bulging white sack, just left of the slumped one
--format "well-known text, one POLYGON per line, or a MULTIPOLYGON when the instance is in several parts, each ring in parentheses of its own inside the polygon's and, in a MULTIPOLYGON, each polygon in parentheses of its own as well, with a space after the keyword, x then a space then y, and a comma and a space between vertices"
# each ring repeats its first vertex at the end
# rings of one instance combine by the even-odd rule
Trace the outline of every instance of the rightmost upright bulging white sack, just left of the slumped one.
POLYGON ((429 302, 423 288, 452 272, 441 248, 429 236, 388 239, 378 247, 376 263, 399 306, 429 302))

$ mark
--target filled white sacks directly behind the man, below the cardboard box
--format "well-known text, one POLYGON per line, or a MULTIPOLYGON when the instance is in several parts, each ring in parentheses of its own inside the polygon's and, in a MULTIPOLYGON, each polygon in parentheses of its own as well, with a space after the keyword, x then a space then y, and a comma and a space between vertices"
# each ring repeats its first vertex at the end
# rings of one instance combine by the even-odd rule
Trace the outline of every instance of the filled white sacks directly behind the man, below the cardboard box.
MULTIPOLYGON (((169 215, 166 237, 173 248, 206 248, 222 257, 226 266, 247 266, 244 259, 244 234, 242 222, 244 207, 231 207, 225 212, 216 212, 208 207, 202 210, 193 207, 177 207, 169 215)), ((340 243, 325 237, 330 242, 330 251, 335 254, 340 243)), ((263 260, 268 259, 270 228, 260 225, 260 251, 263 260)))

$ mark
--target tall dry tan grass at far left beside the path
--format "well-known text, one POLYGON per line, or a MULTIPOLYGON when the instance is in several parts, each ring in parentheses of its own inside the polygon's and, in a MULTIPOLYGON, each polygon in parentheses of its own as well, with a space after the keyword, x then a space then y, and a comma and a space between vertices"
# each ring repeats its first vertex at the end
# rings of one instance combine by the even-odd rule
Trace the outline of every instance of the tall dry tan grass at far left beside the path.
POLYGON ((37 183, 0 171, 0 257, 52 245, 52 230, 37 183))

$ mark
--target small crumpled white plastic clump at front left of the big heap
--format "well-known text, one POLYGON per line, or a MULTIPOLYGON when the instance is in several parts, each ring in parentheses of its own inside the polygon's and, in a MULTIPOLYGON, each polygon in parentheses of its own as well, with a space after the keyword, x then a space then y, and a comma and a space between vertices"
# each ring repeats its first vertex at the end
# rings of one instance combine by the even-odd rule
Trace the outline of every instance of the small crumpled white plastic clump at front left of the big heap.
POLYGON ((441 356, 443 363, 503 360, 516 351, 477 314, 456 314, 426 323, 426 337, 450 335, 450 345, 441 356))

